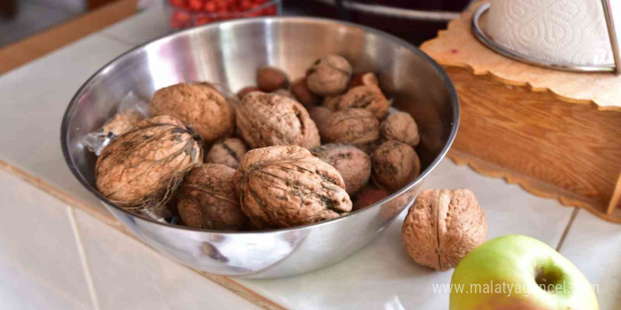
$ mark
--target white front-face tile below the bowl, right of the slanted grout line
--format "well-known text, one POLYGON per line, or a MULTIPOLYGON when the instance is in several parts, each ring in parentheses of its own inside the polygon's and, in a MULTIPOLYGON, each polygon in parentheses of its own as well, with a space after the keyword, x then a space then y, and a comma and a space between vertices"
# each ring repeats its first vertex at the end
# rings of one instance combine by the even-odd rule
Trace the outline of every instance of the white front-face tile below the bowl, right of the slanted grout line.
POLYGON ((76 220, 102 310, 258 309, 82 211, 76 220))

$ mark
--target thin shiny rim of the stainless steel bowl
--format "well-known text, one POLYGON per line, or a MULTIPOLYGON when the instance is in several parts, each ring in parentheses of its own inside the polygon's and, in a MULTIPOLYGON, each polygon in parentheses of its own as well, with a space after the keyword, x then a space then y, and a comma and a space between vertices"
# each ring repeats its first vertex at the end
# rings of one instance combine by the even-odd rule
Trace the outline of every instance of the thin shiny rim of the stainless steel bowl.
MULTIPOLYGON (((140 218, 140 220, 143 221, 147 221, 156 225, 162 225, 166 228, 173 228, 173 229, 179 229, 179 230, 187 230, 190 232, 196 232, 196 233, 218 233, 218 234, 231 234, 231 235, 261 235, 261 234, 269 234, 269 233, 287 233, 290 231, 295 231, 295 230, 305 230, 308 228, 315 228, 321 225, 329 225, 330 223, 336 223, 338 221, 344 221, 346 218, 354 218, 356 217, 358 214, 364 213, 364 212, 368 212, 370 211, 370 209, 375 209, 376 207, 378 207, 380 204, 384 204, 385 202, 388 202, 392 199, 395 199, 399 196, 401 196, 404 192, 411 190, 411 188, 415 187, 416 185, 418 185, 419 183, 422 182, 422 180, 424 178, 427 177, 427 175, 429 175, 429 173, 431 173, 431 171, 433 171, 433 169, 435 169, 436 166, 438 166, 438 164, 440 163, 440 161, 442 161, 442 159, 445 158, 447 152, 449 151, 450 147, 452 146, 455 137, 457 136, 457 130, 459 128, 459 118, 460 118, 460 109, 459 109, 459 97, 457 97, 457 89, 455 89, 452 80, 450 80, 450 77, 448 76, 448 74, 445 72, 445 70, 442 69, 442 67, 433 60, 433 58, 431 58, 430 56, 428 56, 426 53, 424 53, 423 51, 421 51, 420 49, 418 49, 416 46, 414 46, 413 44, 410 44, 409 42, 406 42, 404 39, 400 39, 394 35, 390 35, 387 32, 383 32, 381 30, 377 30, 375 28, 372 27, 367 27, 364 25, 358 25, 358 24, 354 24, 354 23, 349 23, 349 22, 344 22, 342 20, 331 20, 328 18, 314 18, 314 17, 303 17, 303 16, 263 16, 263 17, 257 17, 257 18, 243 18, 243 19, 239 19, 239 20, 223 20, 217 23, 209 23, 206 25, 200 25, 198 27, 191 27, 185 30, 181 30, 178 32, 173 32, 171 34, 167 34, 167 35, 162 35, 160 37, 157 37, 155 39, 151 39, 143 44, 139 44, 138 46, 133 47, 132 49, 124 52, 123 54, 116 56, 115 58, 113 58, 111 61, 107 62, 104 66, 102 66, 102 68, 98 69, 95 73, 93 73, 88 80, 86 80, 83 85, 80 86, 80 88, 78 88, 78 91, 76 92, 76 94, 73 95, 73 97, 71 98, 71 101, 69 101, 69 104, 64 112, 63 115, 63 119, 61 122, 61 149, 63 151, 63 156, 65 159, 65 162, 69 168, 69 170, 71 170, 71 173, 73 173, 73 176, 78 179, 78 182, 80 182, 80 184, 86 188, 86 190, 88 190, 91 194, 94 194, 95 197, 97 197, 97 199, 100 200, 100 202, 103 202, 105 205, 110 206, 114 209, 117 209, 123 213, 126 213, 126 215, 131 216, 132 218, 140 218), (450 130, 448 139, 447 139, 447 143, 444 145, 444 147, 442 147, 442 151, 440 151, 440 154, 438 154, 438 156, 435 157, 435 159, 430 163, 430 165, 423 171, 421 172, 418 177, 416 177, 415 180, 412 180, 411 182, 409 182, 407 185, 405 185, 404 187, 400 188, 399 190, 397 190, 396 192, 393 192, 392 194, 388 195, 387 197, 385 197, 384 199, 381 199, 378 202, 375 202, 374 204, 371 204, 370 206, 367 206, 363 209, 360 210, 356 210, 353 211, 349 214, 347 214, 346 216, 339 216, 338 218, 332 218, 330 220, 325 220, 325 221, 320 221, 318 223, 310 223, 310 224, 306 224, 306 225, 299 225, 299 226, 294 226, 294 227, 290 227, 290 228, 277 228, 277 229, 270 229, 270 230, 251 230, 251 231, 234 231, 234 230, 207 230, 207 229, 201 229, 201 228, 191 228, 191 227, 187 227, 187 226, 181 226, 181 225, 174 225, 174 224, 169 224, 169 223, 164 223, 161 221, 157 221, 153 218, 149 218, 147 216, 144 216, 142 214, 138 214, 138 213, 133 213, 131 211, 127 211, 126 209, 123 209, 121 206, 117 206, 116 204, 112 203, 109 199, 107 199, 106 197, 104 197, 95 187, 93 187, 92 185, 90 185, 89 182, 87 182, 85 180, 85 178, 83 177, 83 175, 81 175, 80 171, 78 171, 78 169, 76 168, 76 165, 73 163, 73 160, 71 159, 71 156, 69 154, 69 150, 68 150, 68 141, 67 141, 67 134, 68 134, 68 120, 69 120, 69 116, 71 115, 74 107, 76 106, 76 103, 78 102, 79 97, 83 94, 83 91, 87 88, 90 87, 90 85, 92 84, 92 82, 94 82, 95 78, 98 77, 100 75, 100 73, 102 73, 102 71, 107 70, 111 65, 113 65, 114 63, 116 63, 117 61, 119 61, 121 58, 124 58, 128 55, 131 55, 133 53, 136 53, 139 49, 142 49, 144 46, 147 46, 149 44, 153 44, 155 42, 159 42, 159 41, 166 41, 169 39, 174 39, 175 37, 181 36, 181 35, 185 35, 188 32, 195 32, 195 31, 199 31, 202 28, 207 28, 207 27, 220 27, 221 25, 233 25, 233 24, 245 24, 245 23, 256 23, 258 21, 261 21, 263 23, 265 23, 267 21, 267 23, 277 23, 277 22, 283 22, 283 21, 293 21, 293 22, 297 22, 297 23, 329 23, 329 24, 334 24, 334 25, 345 25, 347 27, 354 27, 354 28, 358 28, 360 30, 363 30, 364 32, 370 32, 374 35, 378 35, 378 36, 382 36, 382 37, 386 37, 387 39, 389 39, 392 42, 395 42, 401 46, 404 46, 406 49, 408 49, 409 51, 413 52, 414 54, 417 54, 418 56, 421 56, 423 59, 425 59, 430 66, 436 71, 436 73, 438 73, 438 75, 440 75, 440 77, 442 78, 442 81, 445 83, 445 86, 447 87, 447 91, 450 97, 450 101, 451 101, 451 105, 452 105, 452 111, 453 111, 453 118, 452 118, 452 128, 450 130)), ((396 216, 395 216, 396 218, 396 216)), ((394 218, 393 218, 394 220, 394 218)))

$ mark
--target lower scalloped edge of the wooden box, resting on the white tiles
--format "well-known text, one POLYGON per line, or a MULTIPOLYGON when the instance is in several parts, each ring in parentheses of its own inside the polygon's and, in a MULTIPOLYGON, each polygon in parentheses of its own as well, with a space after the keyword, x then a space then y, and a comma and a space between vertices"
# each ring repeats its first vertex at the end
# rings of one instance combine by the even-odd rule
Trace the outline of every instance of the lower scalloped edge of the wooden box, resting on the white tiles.
POLYGON ((590 203, 585 199, 579 199, 571 192, 557 189, 557 187, 553 187, 552 185, 548 185, 533 178, 518 175, 517 173, 509 171, 506 168, 496 166, 493 163, 487 163, 486 161, 454 149, 451 149, 447 156, 458 166, 467 166, 481 175, 485 175, 490 178, 502 178, 508 184, 519 185, 519 187, 526 190, 526 192, 536 196, 556 199, 563 206, 585 209, 605 221, 621 223, 621 217, 614 216, 614 213, 608 215, 593 206, 595 204, 594 202, 590 203))

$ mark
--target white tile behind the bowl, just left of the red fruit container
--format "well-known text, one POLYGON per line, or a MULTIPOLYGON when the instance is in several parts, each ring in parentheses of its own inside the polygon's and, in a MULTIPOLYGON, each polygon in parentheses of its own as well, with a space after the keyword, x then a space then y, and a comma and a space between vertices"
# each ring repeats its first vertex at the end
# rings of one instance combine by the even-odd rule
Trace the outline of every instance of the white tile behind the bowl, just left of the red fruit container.
POLYGON ((146 8, 135 16, 105 28, 100 34, 121 42, 138 45, 172 31, 164 9, 164 1, 159 1, 158 4, 146 8))

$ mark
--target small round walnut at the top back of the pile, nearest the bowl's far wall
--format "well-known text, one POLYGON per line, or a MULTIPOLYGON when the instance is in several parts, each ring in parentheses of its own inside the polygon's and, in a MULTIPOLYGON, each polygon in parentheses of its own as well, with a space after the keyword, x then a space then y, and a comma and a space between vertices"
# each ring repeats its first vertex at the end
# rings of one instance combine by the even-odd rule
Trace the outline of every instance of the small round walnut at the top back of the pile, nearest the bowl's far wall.
POLYGON ((349 61, 342 56, 324 56, 306 70, 306 86, 319 96, 340 94, 349 85, 351 71, 349 61))

